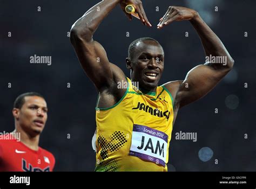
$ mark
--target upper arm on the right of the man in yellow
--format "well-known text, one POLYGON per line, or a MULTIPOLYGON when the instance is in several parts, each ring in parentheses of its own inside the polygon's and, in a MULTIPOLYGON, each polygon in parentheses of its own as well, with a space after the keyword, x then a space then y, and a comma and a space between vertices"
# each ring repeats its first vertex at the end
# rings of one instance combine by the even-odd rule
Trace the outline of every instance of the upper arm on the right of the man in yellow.
POLYGON ((191 69, 177 93, 179 107, 205 96, 227 73, 228 69, 215 69, 207 64, 198 65, 191 69))

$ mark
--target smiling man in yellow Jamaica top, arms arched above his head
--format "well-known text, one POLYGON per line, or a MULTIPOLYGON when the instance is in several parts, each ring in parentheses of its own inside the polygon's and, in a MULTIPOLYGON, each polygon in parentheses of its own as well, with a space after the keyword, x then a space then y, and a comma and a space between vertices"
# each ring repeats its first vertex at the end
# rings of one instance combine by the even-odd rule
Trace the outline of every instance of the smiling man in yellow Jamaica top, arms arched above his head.
POLYGON ((99 24, 118 4, 123 10, 132 4, 141 22, 152 27, 140 0, 105 0, 71 28, 70 40, 80 64, 98 90, 95 170, 167 171, 178 110, 210 92, 232 69, 234 60, 197 11, 170 6, 157 25, 159 30, 173 21, 189 20, 206 56, 224 57, 226 61, 207 61, 191 69, 184 80, 158 86, 164 71, 163 47, 155 39, 139 38, 131 43, 126 58, 129 79, 109 62, 103 46, 93 39, 99 24))

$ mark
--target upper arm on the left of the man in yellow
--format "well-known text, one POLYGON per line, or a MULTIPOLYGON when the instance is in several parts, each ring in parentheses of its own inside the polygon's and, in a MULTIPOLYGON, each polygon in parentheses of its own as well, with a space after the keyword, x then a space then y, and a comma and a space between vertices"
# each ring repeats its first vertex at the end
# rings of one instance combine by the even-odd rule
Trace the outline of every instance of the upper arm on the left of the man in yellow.
POLYGON ((86 41, 80 38, 72 40, 72 45, 85 73, 97 89, 110 85, 113 73, 103 46, 93 39, 86 41))

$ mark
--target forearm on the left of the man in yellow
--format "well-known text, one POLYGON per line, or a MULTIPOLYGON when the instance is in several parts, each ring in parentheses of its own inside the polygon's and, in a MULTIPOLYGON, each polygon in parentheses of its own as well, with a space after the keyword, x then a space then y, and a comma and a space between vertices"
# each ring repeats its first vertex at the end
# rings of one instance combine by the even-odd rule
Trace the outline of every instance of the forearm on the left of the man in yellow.
POLYGON ((91 40, 93 33, 102 20, 120 3, 121 0, 103 0, 92 6, 71 27, 71 33, 75 33, 85 40, 91 40))

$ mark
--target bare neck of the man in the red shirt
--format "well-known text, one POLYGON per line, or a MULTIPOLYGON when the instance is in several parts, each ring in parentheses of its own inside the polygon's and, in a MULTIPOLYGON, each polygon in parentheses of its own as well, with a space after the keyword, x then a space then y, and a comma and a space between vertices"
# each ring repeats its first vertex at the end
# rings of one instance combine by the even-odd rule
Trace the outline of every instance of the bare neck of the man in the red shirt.
MULTIPOLYGON (((27 132, 25 132, 21 127, 16 127, 13 133, 20 133, 21 134, 21 142, 28 146, 32 150, 38 150, 39 148, 39 136, 31 136, 27 132)), ((15 135, 16 136, 16 135, 15 135)))

